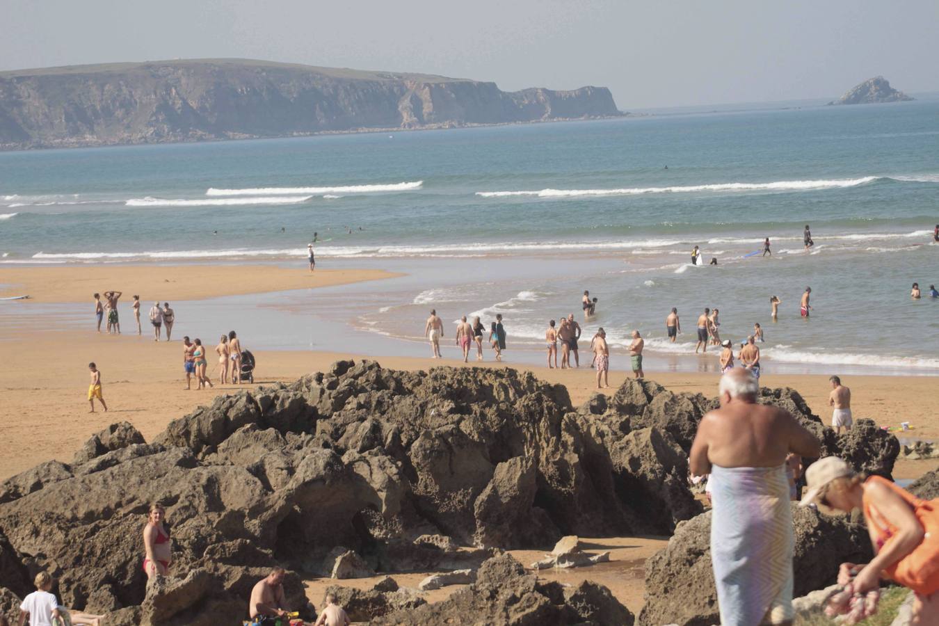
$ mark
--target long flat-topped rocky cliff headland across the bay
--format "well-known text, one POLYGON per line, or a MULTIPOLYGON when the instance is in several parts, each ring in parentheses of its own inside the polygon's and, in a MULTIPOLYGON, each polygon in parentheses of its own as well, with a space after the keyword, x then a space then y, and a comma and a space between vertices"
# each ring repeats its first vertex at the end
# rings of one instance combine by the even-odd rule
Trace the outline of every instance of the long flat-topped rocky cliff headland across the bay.
POLYGON ((0 72, 0 149, 283 137, 620 115, 606 87, 495 83, 241 59, 0 72))

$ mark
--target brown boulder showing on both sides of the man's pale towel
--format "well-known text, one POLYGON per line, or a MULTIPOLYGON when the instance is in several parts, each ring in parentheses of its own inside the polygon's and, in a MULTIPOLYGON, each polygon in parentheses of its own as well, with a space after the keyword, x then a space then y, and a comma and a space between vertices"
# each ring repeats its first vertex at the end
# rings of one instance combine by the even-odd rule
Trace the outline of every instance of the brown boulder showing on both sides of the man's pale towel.
MULTIPOLYGON (((793 527, 795 596, 833 584, 840 563, 866 563, 872 557, 866 528, 847 516, 827 516, 793 504, 793 527)), ((709 511, 679 526, 669 545, 646 561, 646 603, 640 624, 718 623, 710 541, 709 511)))

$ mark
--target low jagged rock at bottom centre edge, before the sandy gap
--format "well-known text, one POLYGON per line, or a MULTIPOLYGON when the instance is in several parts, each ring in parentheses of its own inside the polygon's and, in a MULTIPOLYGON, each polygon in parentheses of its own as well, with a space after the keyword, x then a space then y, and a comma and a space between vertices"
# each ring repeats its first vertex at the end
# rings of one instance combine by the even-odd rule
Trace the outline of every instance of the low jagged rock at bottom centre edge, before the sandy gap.
POLYGON ((448 600, 373 619, 374 626, 436 626, 491 624, 492 626, 632 626, 632 613, 610 594, 590 582, 576 588, 557 583, 539 585, 537 577, 511 555, 483 563, 476 582, 448 600))

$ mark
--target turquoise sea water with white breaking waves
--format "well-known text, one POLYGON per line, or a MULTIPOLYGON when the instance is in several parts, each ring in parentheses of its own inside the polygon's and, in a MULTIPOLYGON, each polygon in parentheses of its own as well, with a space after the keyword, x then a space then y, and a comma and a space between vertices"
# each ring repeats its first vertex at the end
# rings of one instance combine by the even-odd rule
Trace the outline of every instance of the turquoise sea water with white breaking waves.
MULTIPOLYGON (((503 313, 517 354, 540 358, 547 319, 575 312, 582 323, 590 289, 599 308, 588 337, 603 326, 615 344, 639 328, 651 355, 681 367, 713 367, 716 356, 682 356, 708 306, 720 309, 725 338, 762 323, 767 365, 786 371, 937 374, 939 301, 909 298, 913 282, 924 294, 939 283, 937 223, 939 99, 929 98, 0 153, 0 264, 303 267, 316 232, 320 267, 408 277, 298 295, 294 310, 319 306, 345 320, 332 335, 370 331, 416 354, 423 346, 408 340, 436 306, 448 320, 503 313), (747 257, 762 237, 773 257, 747 257), (689 266, 695 244, 719 265, 689 266), (808 285, 806 322, 798 298, 808 285), (772 295, 782 299, 777 324, 772 295), (663 340, 672 306, 685 327, 678 344, 663 340)), ((270 330, 264 338, 293 346, 270 330)))

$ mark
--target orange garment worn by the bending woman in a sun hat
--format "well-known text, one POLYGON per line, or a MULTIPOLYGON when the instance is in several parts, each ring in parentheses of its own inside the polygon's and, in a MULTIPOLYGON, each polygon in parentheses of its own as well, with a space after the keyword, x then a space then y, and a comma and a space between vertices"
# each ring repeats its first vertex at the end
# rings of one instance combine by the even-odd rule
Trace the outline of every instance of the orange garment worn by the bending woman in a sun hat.
MULTIPOLYGON (((928 596, 939 591, 939 498, 921 500, 895 483, 879 476, 871 476, 868 481, 881 482, 906 500, 924 531, 923 540, 913 552, 886 568, 884 573, 891 580, 900 583, 905 588, 913 589, 920 595, 928 596)), ((868 523, 878 531, 879 535, 891 534, 889 528, 878 527, 873 522, 867 503, 864 505, 864 512, 868 523)), ((885 543, 889 541, 887 539, 885 543)))

